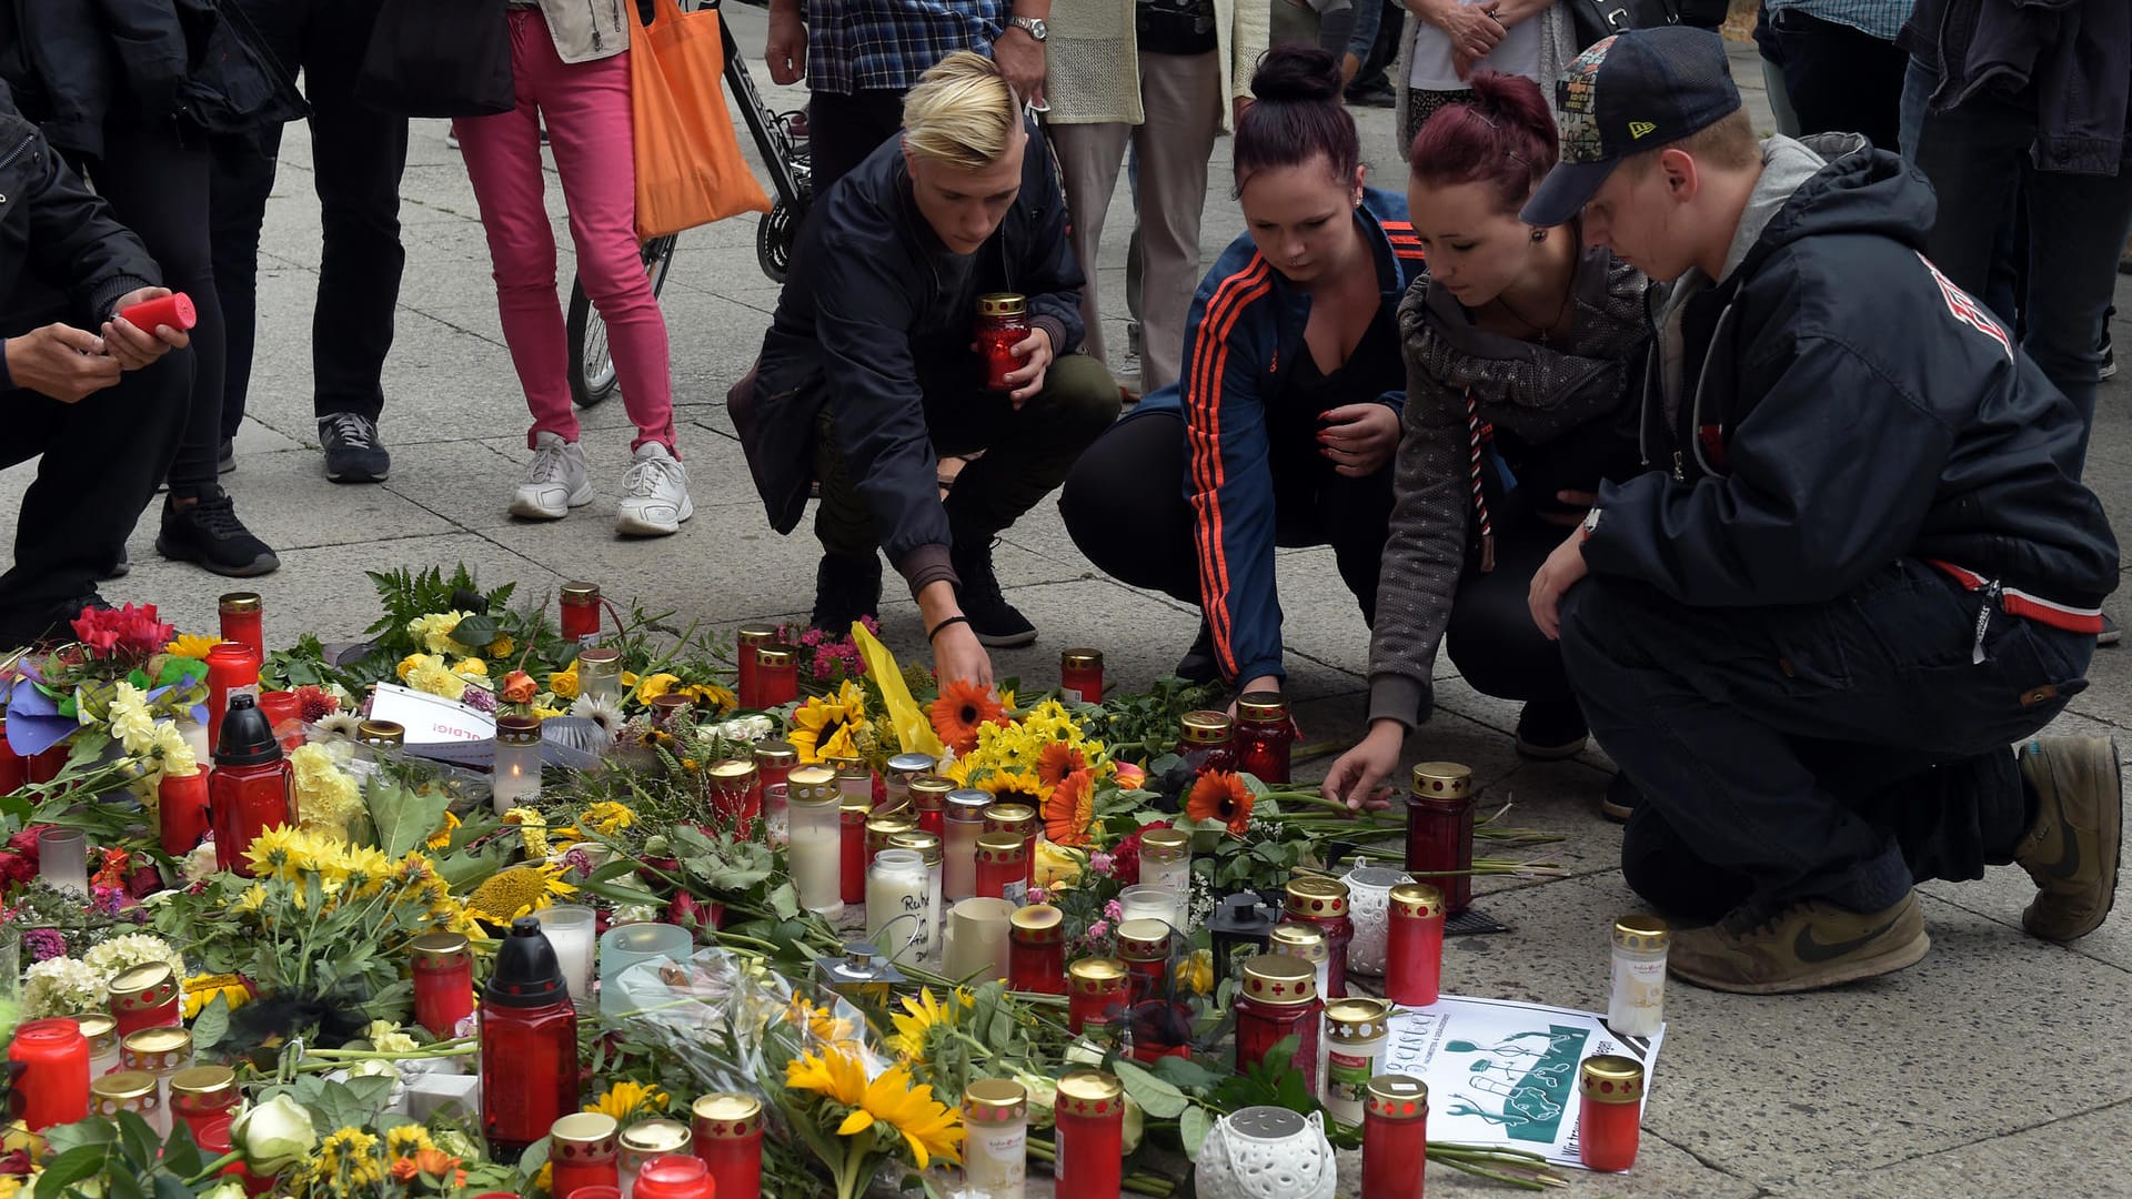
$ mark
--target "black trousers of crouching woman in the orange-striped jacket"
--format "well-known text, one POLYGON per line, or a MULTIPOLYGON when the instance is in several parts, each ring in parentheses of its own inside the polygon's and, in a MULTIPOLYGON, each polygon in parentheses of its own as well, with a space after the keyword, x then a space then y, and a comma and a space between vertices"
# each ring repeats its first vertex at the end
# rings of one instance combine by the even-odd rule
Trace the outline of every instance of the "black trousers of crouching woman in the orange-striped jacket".
MULTIPOLYGON (((1066 476, 1060 514, 1072 544, 1111 578, 1200 604, 1181 416, 1162 412, 1113 425, 1066 476)), ((1341 582, 1369 623, 1377 619, 1377 565, 1390 518, 1390 465, 1347 478, 1307 450, 1275 457, 1275 544, 1332 546, 1341 582)))

